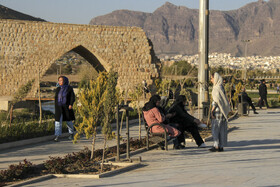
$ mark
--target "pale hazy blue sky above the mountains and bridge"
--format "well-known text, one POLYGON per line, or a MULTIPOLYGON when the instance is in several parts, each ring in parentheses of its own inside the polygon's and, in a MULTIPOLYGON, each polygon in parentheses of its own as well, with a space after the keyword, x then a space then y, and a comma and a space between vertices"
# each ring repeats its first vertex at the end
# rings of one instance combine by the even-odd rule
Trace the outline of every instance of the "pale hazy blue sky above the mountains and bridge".
MULTIPOLYGON (((0 0, 0 4, 16 11, 59 23, 88 24, 100 15, 128 9, 152 13, 167 0, 0 0)), ((210 9, 234 10, 257 0, 209 0, 210 9)), ((199 0, 168 2, 198 9, 199 0)))

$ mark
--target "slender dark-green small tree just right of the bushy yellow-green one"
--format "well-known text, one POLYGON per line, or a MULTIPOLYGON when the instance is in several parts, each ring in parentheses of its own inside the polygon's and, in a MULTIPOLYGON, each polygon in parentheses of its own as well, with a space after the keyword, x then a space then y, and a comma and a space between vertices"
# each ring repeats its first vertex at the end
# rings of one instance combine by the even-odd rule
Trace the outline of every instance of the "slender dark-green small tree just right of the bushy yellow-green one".
POLYGON ((114 119, 115 106, 118 103, 116 86, 117 86, 118 75, 115 72, 110 72, 106 84, 106 91, 104 93, 104 118, 102 122, 102 134, 104 135, 104 146, 102 155, 101 172, 103 170, 103 163, 105 158, 105 148, 107 139, 113 138, 111 122, 114 119))

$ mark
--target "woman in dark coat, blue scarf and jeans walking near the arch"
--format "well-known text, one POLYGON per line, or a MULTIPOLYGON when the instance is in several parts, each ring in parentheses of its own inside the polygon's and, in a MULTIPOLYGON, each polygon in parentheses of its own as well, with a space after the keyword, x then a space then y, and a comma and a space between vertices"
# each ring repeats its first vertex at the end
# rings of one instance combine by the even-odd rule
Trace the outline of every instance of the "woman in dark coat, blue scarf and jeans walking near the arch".
POLYGON ((68 78, 60 76, 58 78, 58 87, 55 92, 55 139, 62 133, 62 121, 66 121, 69 139, 73 140, 74 127, 73 120, 75 115, 73 111, 73 104, 75 102, 75 94, 73 88, 69 85, 68 78))

